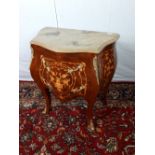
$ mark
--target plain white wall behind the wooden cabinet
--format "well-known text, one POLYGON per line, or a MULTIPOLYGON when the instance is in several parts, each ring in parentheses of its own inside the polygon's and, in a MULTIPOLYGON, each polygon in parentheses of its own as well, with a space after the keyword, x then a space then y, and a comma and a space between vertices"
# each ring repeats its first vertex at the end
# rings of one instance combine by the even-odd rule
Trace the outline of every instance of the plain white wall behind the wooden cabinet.
MULTIPOLYGON (((134 81, 134 0, 55 0, 59 27, 116 32, 117 69, 113 81, 134 81)), ((30 40, 46 26, 56 27, 53 0, 20 0, 20 80, 32 80, 30 40)))

